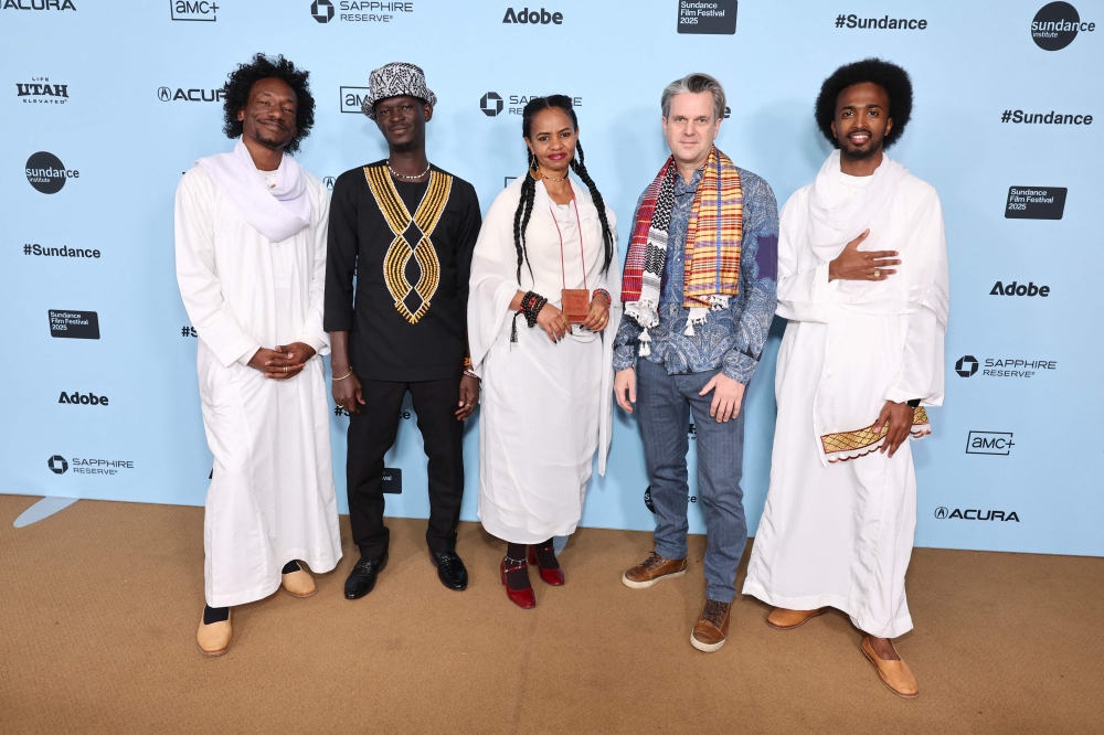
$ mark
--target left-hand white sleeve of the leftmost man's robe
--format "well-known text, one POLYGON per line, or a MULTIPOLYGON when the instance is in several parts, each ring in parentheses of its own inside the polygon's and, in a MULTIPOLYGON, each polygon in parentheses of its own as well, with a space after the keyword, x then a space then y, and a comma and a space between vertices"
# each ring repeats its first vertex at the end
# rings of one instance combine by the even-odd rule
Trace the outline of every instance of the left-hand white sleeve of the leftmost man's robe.
POLYGON ((243 358, 248 363, 261 342, 242 328, 222 295, 214 257, 214 182, 198 167, 177 187, 177 284, 200 339, 229 368, 243 358))

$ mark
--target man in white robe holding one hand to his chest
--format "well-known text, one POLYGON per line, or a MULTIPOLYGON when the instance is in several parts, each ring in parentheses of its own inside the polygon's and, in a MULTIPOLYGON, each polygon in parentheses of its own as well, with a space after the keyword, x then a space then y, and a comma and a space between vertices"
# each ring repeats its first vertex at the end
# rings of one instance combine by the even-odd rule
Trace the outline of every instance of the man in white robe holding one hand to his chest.
POLYGON ((783 207, 778 419, 771 489, 744 594, 789 630, 836 608, 900 696, 920 688, 891 641, 912 629, 905 571, 916 526, 912 436, 943 403, 948 283, 938 194, 890 159, 912 109, 907 73, 868 58, 821 87, 838 149, 783 207))

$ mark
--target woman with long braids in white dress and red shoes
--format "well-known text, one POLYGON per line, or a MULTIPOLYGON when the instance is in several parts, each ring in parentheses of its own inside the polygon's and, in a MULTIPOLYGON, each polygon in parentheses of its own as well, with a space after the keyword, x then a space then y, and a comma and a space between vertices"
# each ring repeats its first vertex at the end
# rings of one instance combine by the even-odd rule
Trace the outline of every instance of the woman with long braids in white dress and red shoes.
POLYGON ((564 584, 552 537, 575 531, 595 451, 605 473, 620 260, 571 99, 530 100, 521 126, 529 171, 498 195, 479 231, 468 341, 482 380, 479 520, 508 544, 507 596, 531 608, 529 564, 545 583, 564 584))

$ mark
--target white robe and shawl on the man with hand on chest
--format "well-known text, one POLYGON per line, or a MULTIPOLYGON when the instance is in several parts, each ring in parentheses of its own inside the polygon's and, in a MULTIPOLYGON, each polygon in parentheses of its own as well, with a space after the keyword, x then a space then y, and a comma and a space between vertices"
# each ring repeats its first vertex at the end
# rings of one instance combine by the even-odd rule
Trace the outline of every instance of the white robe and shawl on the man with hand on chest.
MULTIPOLYGON (((838 180, 845 199, 869 182, 838 180)), ((777 313, 789 323, 775 376, 771 488, 743 592, 788 609, 835 607, 859 629, 894 638, 912 629, 904 590, 916 526, 911 441, 893 458, 874 451, 880 443, 830 456, 820 437, 872 425, 885 401, 942 404, 943 214, 935 190, 905 173, 873 222, 841 234, 836 254, 863 226, 874 243, 860 249, 901 253, 890 280, 900 279, 893 288, 903 301, 911 294, 912 306, 864 309, 857 305, 889 302, 893 292, 887 281, 829 283, 828 260, 810 245, 810 188, 781 215, 777 313)))

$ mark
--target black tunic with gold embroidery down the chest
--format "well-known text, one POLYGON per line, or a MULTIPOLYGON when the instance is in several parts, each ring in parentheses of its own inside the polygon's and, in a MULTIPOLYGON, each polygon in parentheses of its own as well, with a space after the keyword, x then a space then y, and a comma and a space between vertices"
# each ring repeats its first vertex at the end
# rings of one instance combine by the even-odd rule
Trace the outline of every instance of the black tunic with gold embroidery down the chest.
POLYGON ((407 382, 459 374, 480 223, 471 184, 436 167, 423 182, 396 181, 384 161, 338 177, 323 327, 350 332, 358 376, 407 382))

